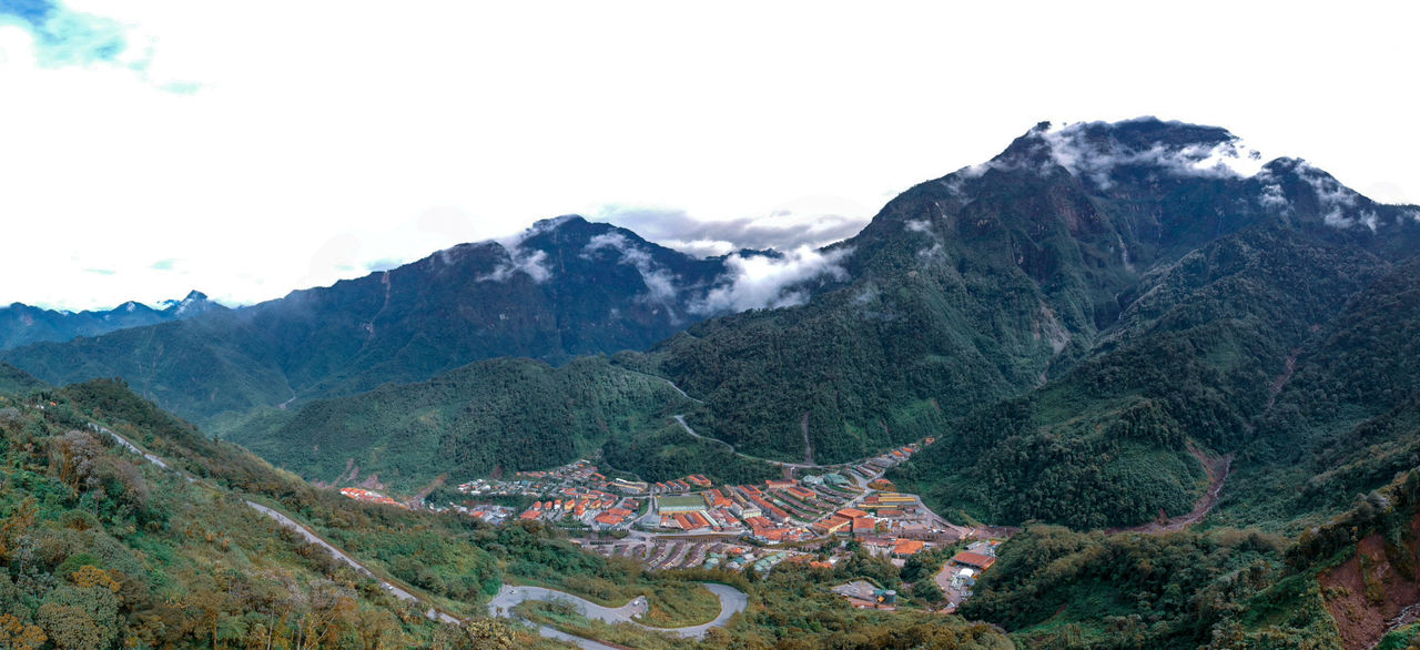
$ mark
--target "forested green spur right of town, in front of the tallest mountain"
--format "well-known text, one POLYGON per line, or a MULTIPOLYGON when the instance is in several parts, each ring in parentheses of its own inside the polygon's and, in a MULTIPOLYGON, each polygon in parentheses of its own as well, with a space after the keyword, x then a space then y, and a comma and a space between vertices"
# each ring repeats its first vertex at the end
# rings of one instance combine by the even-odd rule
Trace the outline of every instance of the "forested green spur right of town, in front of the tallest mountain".
MULTIPOLYGON (((1095 356, 1027 396, 977 409, 899 473, 983 521, 1130 525, 1189 512, 1217 456, 1254 419, 1312 324, 1386 268, 1346 244, 1264 224, 1152 278, 1095 356)), ((1248 467, 1244 457, 1240 467, 1248 467)))

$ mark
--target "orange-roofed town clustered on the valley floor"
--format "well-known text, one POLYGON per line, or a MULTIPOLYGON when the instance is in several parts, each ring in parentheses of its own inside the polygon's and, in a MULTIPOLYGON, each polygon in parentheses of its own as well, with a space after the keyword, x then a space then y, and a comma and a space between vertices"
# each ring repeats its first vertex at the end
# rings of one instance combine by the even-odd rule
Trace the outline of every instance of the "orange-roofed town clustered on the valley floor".
MULTIPOLYGON (((652 569, 764 575, 777 568, 832 568, 859 549, 902 568, 919 553, 956 549, 934 573, 946 595, 941 612, 950 613, 995 563, 995 549, 1010 531, 953 524, 883 478, 933 443, 927 437, 831 467, 787 467, 784 478, 763 484, 719 485, 703 474, 659 483, 608 477, 595 460, 582 458, 552 470, 463 483, 457 485, 463 501, 443 505, 400 502, 355 487, 341 494, 362 502, 454 511, 490 525, 541 522, 567 531, 589 552, 652 569)), ((866 580, 834 592, 856 607, 896 607, 893 590, 866 580)))

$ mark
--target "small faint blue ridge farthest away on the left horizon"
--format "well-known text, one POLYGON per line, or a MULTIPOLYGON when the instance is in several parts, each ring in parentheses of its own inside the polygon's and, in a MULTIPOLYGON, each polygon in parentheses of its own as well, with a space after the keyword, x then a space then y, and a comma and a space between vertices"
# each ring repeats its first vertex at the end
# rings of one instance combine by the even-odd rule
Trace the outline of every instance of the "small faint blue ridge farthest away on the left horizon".
POLYGON ((226 309, 226 307, 207 299, 200 291, 192 291, 180 301, 163 301, 159 307, 162 309, 129 301, 109 311, 68 312, 14 302, 10 307, 0 307, 0 349, 43 341, 97 336, 115 329, 155 325, 193 318, 214 309, 226 309))

